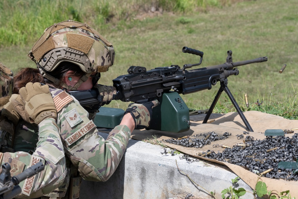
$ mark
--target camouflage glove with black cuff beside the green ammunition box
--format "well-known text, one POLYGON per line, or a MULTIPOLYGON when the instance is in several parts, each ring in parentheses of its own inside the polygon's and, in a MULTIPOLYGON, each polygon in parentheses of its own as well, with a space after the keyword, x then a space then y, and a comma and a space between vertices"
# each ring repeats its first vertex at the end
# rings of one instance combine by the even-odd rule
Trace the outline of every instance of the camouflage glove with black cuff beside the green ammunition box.
POLYGON ((145 104, 130 104, 124 115, 130 113, 134 118, 136 127, 134 129, 145 129, 150 126, 152 119, 152 109, 159 104, 158 100, 153 100, 145 104))

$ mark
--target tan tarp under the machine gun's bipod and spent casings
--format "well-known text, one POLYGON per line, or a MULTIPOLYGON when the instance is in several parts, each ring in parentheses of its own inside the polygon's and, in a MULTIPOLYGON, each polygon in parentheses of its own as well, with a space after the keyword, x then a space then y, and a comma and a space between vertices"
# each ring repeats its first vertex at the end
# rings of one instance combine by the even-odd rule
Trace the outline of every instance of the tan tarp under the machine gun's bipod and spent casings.
MULTIPOLYGON (((244 112, 244 115, 251 125, 254 132, 249 132, 249 135, 263 140, 266 138, 264 135, 265 130, 267 129, 294 129, 298 128, 298 120, 287 120, 283 117, 271 115, 267 113, 262 113, 258 111, 248 111, 244 112)), ((202 121, 193 122, 190 125, 190 130, 182 133, 171 133, 171 132, 161 132, 156 130, 134 130, 132 133, 132 138, 136 140, 143 140, 146 138, 153 138, 152 136, 156 136, 156 138, 161 140, 166 140, 169 138, 179 138, 186 135, 196 135, 200 133, 208 133, 210 131, 214 131, 218 134, 218 136, 222 136, 224 132, 229 132, 232 135, 225 140, 219 140, 211 142, 209 145, 205 145, 201 149, 196 148, 187 148, 175 144, 169 144, 163 142, 165 145, 170 148, 177 149, 185 154, 192 155, 194 157, 202 158, 208 161, 220 163, 228 166, 236 175, 238 175, 243 181, 245 181, 252 189, 255 188, 257 183, 258 175, 234 164, 220 162, 217 160, 212 160, 208 158, 203 158, 197 155, 199 152, 206 152, 207 150, 213 150, 216 153, 222 152, 224 148, 213 148, 215 144, 223 144, 228 146, 233 146, 238 143, 242 143, 243 140, 239 140, 236 135, 243 135, 243 131, 247 131, 245 129, 245 125, 238 115, 237 112, 227 113, 219 118, 216 118, 214 122, 210 124, 202 124, 202 121)), ((298 130, 294 130, 294 133, 298 133, 298 130)), ((291 137, 293 134, 286 134, 286 136, 291 137)), ((246 135, 244 135, 246 137, 246 135)), ((278 192, 290 190, 291 196, 298 196, 298 182, 297 181, 285 181, 285 180, 276 180, 270 178, 261 178, 267 185, 268 190, 277 190, 278 192)))

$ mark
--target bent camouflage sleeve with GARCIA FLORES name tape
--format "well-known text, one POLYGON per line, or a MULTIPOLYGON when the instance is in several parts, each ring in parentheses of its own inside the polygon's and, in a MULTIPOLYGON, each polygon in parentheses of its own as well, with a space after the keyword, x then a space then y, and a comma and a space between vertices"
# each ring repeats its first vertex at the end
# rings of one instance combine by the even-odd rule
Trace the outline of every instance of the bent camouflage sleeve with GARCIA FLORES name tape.
POLYGON ((119 165, 131 132, 127 126, 119 125, 105 140, 88 117, 76 99, 58 112, 65 153, 84 180, 106 181, 119 165))

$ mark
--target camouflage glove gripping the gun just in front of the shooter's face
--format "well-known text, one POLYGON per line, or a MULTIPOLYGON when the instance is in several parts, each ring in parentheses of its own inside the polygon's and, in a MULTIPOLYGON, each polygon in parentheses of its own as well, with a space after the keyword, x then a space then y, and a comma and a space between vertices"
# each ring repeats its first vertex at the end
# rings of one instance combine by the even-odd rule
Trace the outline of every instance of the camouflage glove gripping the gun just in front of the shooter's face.
POLYGON ((100 101, 100 106, 110 104, 110 102, 116 97, 117 90, 113 86, 97 84, 94 88, 98 90, 98 101, 100 101))

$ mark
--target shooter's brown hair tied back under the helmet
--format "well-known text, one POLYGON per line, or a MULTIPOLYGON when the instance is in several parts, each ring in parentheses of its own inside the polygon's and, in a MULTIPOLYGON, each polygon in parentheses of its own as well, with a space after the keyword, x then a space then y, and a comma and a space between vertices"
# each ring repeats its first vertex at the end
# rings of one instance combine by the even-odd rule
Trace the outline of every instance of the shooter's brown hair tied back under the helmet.
MULTIPOLYGON (((47 72, 47 74, 59 79, 60 81, 64 82, 64 77, 66 76, 66 72, 69 72, 68 75, 81 77, 85 74, 80 67, 76 64, 73 64, 69 61, 63 61, 59 64, 59 67, 57 67, 52 72, 47 72)), ((36 68, 21 68, 19 69, 19 72, 14 76, 14 89, 13 93, 18 94, 21 87, 26 86, 28 82, 39 82, 42 84, 50 84, 53 86, 53 83, 49 81, 48 79, 44 78, 40 72, 39 69, 36 68)), ((55 86, 55 85, 54 85, 55 86)))

